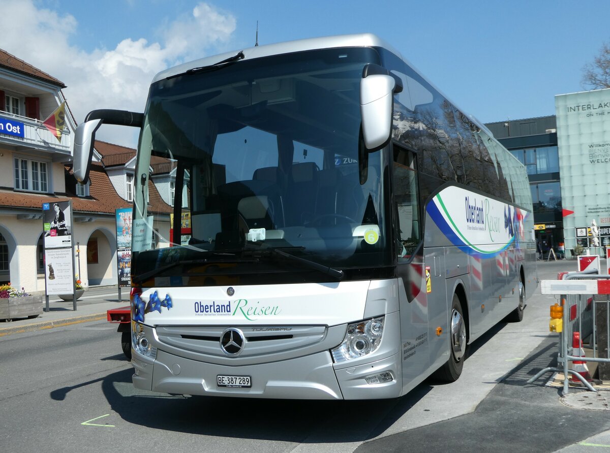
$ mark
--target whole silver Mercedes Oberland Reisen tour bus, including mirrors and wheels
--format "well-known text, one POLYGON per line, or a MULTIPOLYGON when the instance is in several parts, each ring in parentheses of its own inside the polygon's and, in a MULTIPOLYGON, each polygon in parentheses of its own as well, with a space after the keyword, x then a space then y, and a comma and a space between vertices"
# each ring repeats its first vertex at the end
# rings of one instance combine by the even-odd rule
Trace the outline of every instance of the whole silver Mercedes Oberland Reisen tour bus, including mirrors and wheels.
POLYGON ((79 126, 81 182, 101 124, 140 128, 137 388, 396 398, 458 379, 537 285, 525 167, 374 35, 163 71, 144 113, 79 126))

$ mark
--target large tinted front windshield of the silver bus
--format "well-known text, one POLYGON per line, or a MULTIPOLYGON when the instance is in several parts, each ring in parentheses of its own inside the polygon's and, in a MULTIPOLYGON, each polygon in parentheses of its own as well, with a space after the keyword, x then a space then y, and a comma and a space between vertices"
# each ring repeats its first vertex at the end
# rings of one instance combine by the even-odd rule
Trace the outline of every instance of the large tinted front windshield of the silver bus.
POLYGON ((382 152, 359 138, 362 69, 378 59, 372 48, 297 52, 153 84, 133 188, 135 273, 311 281, 304 273, 323 273, 306 262, 392 263, 382 152), (163 180, 170 202, 154 204, 163 180))

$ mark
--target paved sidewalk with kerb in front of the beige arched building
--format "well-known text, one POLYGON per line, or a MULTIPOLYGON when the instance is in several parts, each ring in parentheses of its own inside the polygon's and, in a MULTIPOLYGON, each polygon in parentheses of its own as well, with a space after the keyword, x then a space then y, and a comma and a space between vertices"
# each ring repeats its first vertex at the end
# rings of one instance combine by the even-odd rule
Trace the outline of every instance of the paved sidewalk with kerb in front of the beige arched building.
MULTIPOLYGON (((0 321, 0 337, 5 335, 23 334, 36 330, 53 329, 54 327, 70 326, 77 323, 88 323, 90 321, 103 321, 107 319, 106 311, 129 305, 129 288, 123 288, 121 293, 122 302, 118 301, 117 285, 104 287, 89 287, 88 291, 76 301, 76 312, 73 310, 72 301, 50 302, 49 312, 42 312, 37 318, 21 318, 13 321, 0 321), (107 293, 114 292, 114 296, 88 295, 91 290, 104 290, 107 293)), ((91 291, 92 292, 92 291, 91 291)), ((51 301, 56 296, 49 296, 51 301)), ((43 309, 45 302, 43 301, 43 309)))

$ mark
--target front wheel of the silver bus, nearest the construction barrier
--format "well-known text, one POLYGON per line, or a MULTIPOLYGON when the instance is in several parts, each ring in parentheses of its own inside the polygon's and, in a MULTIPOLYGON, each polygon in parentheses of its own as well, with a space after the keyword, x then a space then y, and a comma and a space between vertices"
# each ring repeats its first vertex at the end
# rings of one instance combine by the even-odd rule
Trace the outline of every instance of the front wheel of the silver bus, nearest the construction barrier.
POLYGON ((453 294, 449 323, 449 360, 432 375, 432 379, 440 382, 458 380, 466 359, 466 320, 458 294, 453 294))

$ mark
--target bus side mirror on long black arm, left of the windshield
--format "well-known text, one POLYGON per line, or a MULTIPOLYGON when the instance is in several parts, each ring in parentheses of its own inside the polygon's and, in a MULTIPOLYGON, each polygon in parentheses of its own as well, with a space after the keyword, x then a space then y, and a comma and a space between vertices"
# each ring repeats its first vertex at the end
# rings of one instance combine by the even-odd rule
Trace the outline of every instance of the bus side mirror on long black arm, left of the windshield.
POLYGON ((73 148, 73 171, 78 182, 87 184, 89 169, 93 158, 95 132, 102 124, 117 124, 118 126, 142 127, 143 113, 127 112, 126 110, 93 110, 85 117, 84 123, 76 128, 73 148))

